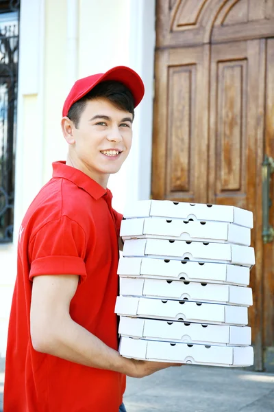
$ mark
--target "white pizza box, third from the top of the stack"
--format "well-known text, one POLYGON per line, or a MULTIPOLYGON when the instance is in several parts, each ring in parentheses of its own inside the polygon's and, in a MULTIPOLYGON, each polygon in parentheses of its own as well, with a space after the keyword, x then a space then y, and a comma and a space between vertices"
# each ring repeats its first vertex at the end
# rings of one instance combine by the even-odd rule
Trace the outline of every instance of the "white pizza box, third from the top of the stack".
POLYGON ((127 239, 123 256, 164 258, 199 262, 220 262, 251 267, 255 264, 253 247, 228 243, 184 242, 166 239, 127 239))

